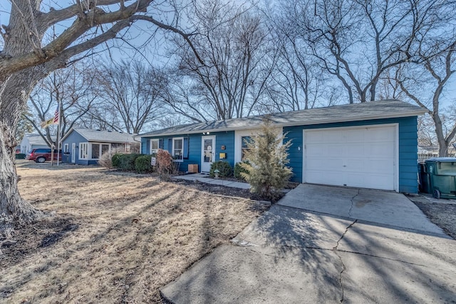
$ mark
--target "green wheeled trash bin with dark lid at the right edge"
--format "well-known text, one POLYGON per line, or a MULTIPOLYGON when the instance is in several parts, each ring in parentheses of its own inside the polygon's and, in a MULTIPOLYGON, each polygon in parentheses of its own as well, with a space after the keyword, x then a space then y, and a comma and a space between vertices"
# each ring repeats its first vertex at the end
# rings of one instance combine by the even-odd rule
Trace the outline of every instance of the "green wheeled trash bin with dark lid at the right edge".
POLYGON ((456 198, 456 158, 436 157, 425 160, 423 190, 435 198, 456 198))

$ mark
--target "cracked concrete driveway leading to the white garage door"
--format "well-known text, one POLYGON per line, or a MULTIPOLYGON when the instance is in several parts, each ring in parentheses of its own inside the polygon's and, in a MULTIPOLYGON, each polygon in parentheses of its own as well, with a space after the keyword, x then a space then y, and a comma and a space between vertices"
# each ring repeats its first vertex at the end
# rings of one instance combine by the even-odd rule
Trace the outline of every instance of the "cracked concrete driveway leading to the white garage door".
POLYGON ((161 292, 172 303, 455 303, 456 241, 402 194, 300 185, 161 292))

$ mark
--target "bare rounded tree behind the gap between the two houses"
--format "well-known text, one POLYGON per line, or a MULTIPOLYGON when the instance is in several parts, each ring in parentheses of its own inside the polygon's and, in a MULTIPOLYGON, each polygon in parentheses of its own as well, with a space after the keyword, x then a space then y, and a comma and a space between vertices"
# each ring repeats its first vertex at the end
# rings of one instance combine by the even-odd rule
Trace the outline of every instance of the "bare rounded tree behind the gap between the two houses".
POLYGON ((115 129, 140 133, 145 126, 152 128, 166 112, 161 98, 166 78, 160 69, 123 61, 103 66, 99 74, 100 103, 90 113, 92 118, 112 123, 115 129), (100 110, 108 117, 100 116, 100 110))

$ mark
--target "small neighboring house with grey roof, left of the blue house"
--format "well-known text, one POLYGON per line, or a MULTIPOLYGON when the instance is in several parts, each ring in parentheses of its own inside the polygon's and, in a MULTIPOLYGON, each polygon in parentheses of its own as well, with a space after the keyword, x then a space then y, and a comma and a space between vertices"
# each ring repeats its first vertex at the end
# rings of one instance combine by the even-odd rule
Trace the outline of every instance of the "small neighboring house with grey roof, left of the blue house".
POLYGON ((94 165, 103 153, 112 149, 128 153, 135 143, 133 136, 118 131, 72 128, 61 141, 62 162, 94 165))

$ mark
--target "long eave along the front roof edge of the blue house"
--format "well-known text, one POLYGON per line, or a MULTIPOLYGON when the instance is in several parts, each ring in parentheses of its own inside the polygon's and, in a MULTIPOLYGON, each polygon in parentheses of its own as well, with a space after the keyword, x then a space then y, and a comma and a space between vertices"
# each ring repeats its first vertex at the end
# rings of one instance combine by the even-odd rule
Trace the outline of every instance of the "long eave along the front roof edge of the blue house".
MULTIPOLYGON (((390 113, 390 115, 366 115, 366 116, 358 116, 358 117, 347 117, 343 118, 330 118, 330 119, 321 119, 318 121, 290 121, 289 123, 275 123, 275 126, 284 127, 284 126, 312 126, 318 124, 326 124, 326 123, 346 123, 348 121, 368 121, 368 120, 375 120, 375 119, 388 119, 388 118, 400 118, 400 117, 412 117, 412 116, 420 116, 427 113, 427 111, 423 109, 414 110, 414 111, 407 111, 407 112, 400 112, 400 113, 390 113)), ((238 128, 214 128, 214 129, 202 129, 202 130, 195 130, 195 131, 180 131, 180 132, 170 132, 170 133, 156 133, 156 134, 138 134, 137 137, 157 137, 157 136, 175 136, 180 134, 197 134, 197 133, 206 133, 206 132, 224 132, 224 131, 239 131, 239 130, 246 130, 246 129, 254 129, 259 128, 258 125, 252 127, 238 127, 238 128)))

